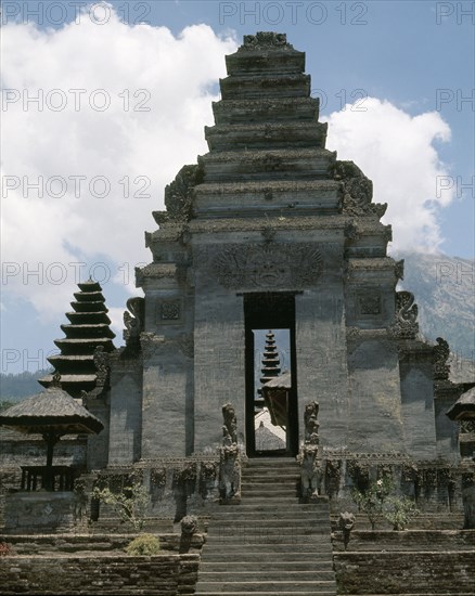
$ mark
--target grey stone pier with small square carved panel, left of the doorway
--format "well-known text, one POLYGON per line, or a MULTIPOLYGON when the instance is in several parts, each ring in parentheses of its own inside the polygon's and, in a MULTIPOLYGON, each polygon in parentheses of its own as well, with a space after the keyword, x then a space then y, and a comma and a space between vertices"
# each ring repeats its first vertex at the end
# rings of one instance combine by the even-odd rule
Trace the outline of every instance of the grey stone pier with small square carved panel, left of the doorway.
POLYGON ((144 290, 141 457, 182 457, 193 449, 193 298, 175 269, 144 290))

